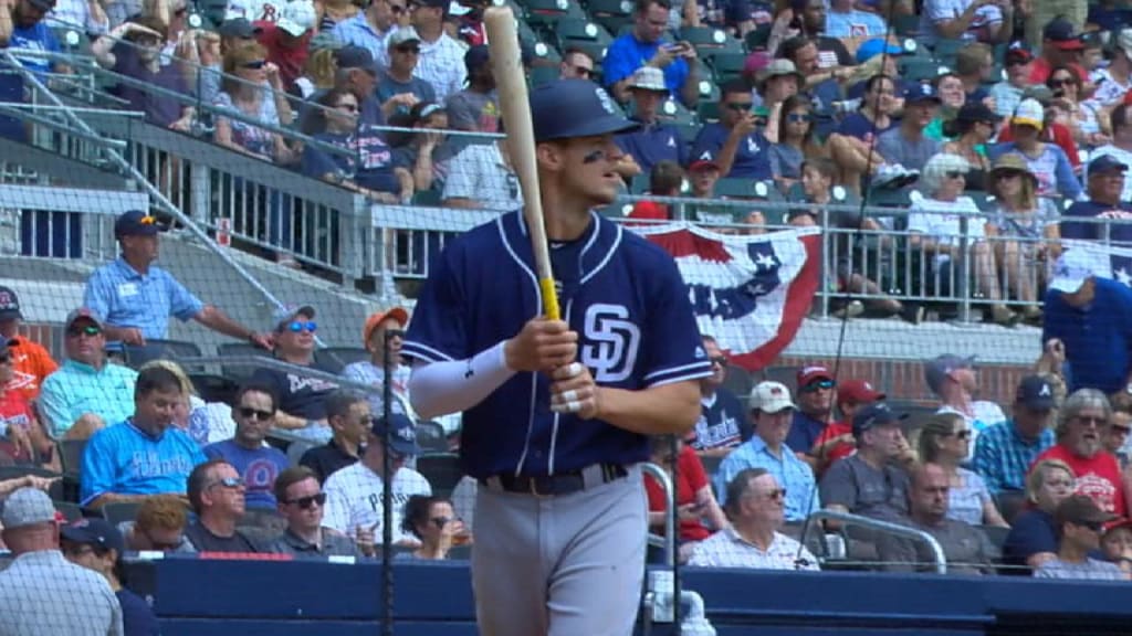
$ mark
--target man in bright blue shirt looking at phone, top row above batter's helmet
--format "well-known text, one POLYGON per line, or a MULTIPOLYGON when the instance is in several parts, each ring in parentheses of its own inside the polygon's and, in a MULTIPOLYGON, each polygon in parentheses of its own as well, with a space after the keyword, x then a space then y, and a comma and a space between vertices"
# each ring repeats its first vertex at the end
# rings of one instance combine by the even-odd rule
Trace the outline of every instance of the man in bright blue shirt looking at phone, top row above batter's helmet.
POLYGON ((619 36, 601 62, 602 80, 621 103, 629 98, 629 83, 641 67, 664 71, 664 86, 674 98, 692 108, 700 100, 696 49, 686 41, 664 42, 669 0, 636 0, 633 31, 619 36))

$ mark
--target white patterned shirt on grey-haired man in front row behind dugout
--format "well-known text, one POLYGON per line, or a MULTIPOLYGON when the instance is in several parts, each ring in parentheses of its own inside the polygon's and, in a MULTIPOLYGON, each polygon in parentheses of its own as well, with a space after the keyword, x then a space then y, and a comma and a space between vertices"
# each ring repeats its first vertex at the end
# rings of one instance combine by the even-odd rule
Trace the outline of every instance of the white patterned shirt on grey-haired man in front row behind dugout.
POLYGON ((817 558, 800 543, 774 533, 763 550, 727 527, 696 543, 688 565, 693 567, 820 570, 817 558))

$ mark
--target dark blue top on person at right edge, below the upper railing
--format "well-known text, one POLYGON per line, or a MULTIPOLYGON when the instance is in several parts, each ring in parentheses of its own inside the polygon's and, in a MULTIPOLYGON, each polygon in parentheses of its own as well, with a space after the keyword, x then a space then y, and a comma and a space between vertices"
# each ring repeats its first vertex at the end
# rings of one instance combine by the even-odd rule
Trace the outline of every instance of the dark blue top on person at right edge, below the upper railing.
POLYGON ((1124 390, 1132 362, 1132 290, 1110 278, 1095 278, 1092 303, 1071 307, 1056 290, 1046 292, 1041 342, 1060 338, 1070 367, 1070 392, 1096 388, 1110 395, 1124 390))

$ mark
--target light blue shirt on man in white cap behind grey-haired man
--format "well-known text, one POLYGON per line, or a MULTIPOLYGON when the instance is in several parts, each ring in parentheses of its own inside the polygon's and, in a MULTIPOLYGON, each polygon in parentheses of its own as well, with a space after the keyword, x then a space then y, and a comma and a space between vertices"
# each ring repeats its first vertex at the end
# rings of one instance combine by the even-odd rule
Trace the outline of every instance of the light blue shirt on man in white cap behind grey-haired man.
POLYGON ((805 521, 811 513, 818 509, 817 488, 815 488, 814 471, 799 459, 790 447, 782 445, 782 457, 775 457, 766 442, 757 435, 732 450, 715 471, 715 492, 719 502, 723 505, 727 498, 727 484, 735 475, 746 469, 766 469, 781 488, 786 489, 786 521, 805 521))

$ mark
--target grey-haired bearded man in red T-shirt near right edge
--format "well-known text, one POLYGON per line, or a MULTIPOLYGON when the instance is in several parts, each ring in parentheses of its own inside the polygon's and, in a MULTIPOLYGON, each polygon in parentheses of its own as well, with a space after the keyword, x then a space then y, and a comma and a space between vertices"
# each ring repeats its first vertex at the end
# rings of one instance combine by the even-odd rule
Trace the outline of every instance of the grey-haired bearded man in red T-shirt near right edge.
POLYGON ((1092 498, 1101 510, 1125 516, 1127 501, 1120 465, 1101 445, 1112 414, 1108 398, 1099 390, 1073 392, 1057 413, 1057 444, 1038 455, 1037 461, 1065 462, 1077 475, 1078 495, 1092 498))

